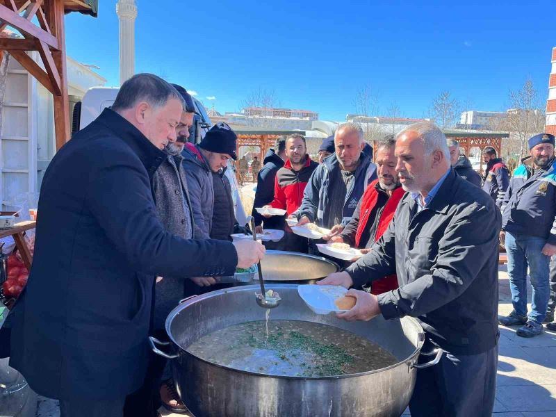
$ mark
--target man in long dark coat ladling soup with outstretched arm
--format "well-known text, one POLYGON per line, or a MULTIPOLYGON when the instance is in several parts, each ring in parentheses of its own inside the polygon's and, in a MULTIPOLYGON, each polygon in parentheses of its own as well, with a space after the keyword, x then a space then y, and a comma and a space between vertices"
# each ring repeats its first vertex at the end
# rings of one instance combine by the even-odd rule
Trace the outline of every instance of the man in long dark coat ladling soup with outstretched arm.
POLYGON ((31 275, 10 313, 10 366, 58 398, 62 417, 122 416, 145 378, 156 275, 231 275, 263 256, 254 242, 163 229, 151 181, 181 111, 170 84, 133 76, 44 174, 31 275))

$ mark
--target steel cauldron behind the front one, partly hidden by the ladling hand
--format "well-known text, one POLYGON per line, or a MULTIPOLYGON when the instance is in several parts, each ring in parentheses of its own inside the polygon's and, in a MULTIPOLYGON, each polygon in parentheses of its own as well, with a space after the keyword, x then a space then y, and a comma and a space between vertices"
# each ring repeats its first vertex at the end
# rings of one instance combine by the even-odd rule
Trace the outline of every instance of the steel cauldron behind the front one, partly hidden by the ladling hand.
MULTIPOLYGON (((268 250, 261 260, 261 269, 266 281, 284 284, 315 284, 316 281, 338 272, 337 263, 322 256, 268 250)), ((259 275, 255 276, 259 279, 259 275)), ((250 284, 257 284, 254 281, 250 284)))

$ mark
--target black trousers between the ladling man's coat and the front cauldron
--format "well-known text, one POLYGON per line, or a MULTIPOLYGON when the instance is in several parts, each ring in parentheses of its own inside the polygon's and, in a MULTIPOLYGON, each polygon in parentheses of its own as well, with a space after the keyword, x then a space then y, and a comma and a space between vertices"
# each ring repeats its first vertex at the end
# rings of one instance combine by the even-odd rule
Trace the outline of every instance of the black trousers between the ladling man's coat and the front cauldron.
MULTIPOLYGON (((164 330, 155 331, 153 334, 160 341, 169 340, 164 330)), ((158 409, 162 405, 160 387, 166 361, 167 359, 150 352, 145 380, 140 389, 127 396, 124 405, 124 417, 158 416, 158 409)), ((79 416, 79 414, 76 414, 76 416, 79 416)))

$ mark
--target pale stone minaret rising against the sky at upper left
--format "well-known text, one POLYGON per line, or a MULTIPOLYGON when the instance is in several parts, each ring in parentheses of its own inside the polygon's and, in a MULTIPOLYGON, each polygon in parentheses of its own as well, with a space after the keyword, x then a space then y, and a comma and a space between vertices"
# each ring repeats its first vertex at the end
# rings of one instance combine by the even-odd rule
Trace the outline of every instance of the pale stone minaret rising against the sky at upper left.
POLYGON ((118 0, 116 14, 120 18, 120 85, 135 74, 135 0, 118 0))

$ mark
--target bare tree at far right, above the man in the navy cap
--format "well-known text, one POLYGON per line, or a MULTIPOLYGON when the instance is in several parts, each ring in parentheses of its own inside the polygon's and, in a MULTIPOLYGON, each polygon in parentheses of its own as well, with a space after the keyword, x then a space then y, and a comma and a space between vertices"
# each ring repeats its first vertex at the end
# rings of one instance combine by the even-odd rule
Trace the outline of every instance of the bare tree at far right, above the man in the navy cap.
POLYGON ((508 145, 514 141, 516 149, 512 149, 513 154, 523 158, 527 153, 528 139, 536 133, 543 132, 546 122, 543 101, 539 99, 531 79, 525 80, 520 90, 509 91, 509 106, 507 117, 502 120, 500 127, 510 133, 508 145))

